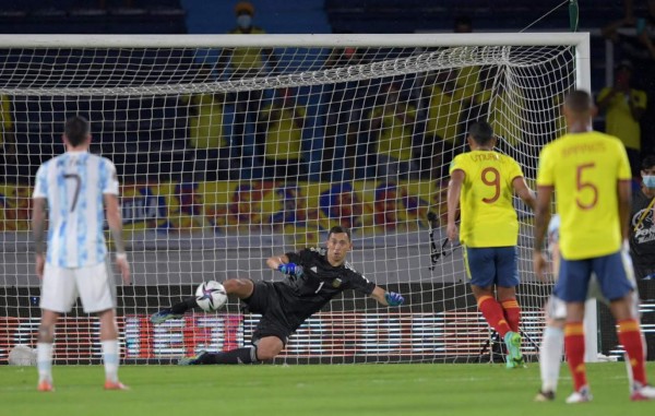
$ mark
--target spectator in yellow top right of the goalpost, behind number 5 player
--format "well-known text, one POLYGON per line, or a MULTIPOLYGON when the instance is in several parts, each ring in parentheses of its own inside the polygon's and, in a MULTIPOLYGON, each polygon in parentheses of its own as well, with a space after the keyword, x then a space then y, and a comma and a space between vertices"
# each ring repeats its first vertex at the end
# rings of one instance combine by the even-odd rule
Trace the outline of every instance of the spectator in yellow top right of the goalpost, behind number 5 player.
POLYGON ((598 109, 606 111, 605 132, 623 142, 632 176, 639 176, 641 152, 640 119, 646 109, 646 93, 631 86, 632 63, 621 61, 617 67, 614 86, 605 87, 598 95, 598 109))

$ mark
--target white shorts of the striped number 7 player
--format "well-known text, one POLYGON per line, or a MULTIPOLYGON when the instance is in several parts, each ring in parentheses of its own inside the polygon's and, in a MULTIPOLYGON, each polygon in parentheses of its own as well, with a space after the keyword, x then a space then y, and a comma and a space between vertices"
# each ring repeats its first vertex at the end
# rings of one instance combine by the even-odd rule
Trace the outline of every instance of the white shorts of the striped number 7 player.
POLYGON ((67 269, 46 263, 40 308, 69 312, 78 296, 86 313, 116 308, 116 284, 109 263, 67 269))

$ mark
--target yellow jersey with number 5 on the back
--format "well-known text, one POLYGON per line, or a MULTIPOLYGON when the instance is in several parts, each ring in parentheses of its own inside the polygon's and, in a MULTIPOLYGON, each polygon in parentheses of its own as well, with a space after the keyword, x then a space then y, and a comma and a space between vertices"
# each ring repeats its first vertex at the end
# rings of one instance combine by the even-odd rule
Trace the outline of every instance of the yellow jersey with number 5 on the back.
POLYGON ((620 250, 617 185, 630 179, 626 147, 614 135, 569 133, 541 150, 537 186, 555 188, 564 259, 590 259, 620 250))

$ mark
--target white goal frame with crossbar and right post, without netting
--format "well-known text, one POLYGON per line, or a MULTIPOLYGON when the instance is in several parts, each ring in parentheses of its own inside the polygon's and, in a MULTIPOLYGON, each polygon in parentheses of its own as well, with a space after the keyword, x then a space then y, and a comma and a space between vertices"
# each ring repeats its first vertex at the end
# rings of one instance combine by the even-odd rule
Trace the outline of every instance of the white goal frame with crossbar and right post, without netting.
MULTIPOLYGON (((0 35, 1 48, 337 48, 337 47, 465 47, 572 46, 576 87, 591 91, 588 33, 472 34, 272 34, 272 35, 0 35)), ((311 81, 308 81, 311 85, 311 81)), ((598 353, 596 304, 587 302, 585 360, 598 353)))

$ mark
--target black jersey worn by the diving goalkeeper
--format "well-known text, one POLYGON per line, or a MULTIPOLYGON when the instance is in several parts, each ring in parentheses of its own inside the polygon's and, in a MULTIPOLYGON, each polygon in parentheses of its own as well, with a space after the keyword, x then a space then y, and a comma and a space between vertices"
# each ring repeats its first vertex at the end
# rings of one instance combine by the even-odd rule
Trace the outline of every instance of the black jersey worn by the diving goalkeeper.
POLYGON ((309 248, 286 255, 303 270, 300 277, 289 276, 276 284, 286 319, 294 326, 300 325, 344 290, 355 289, 371 295, 376 288, 373 282, 364 277, 348 262, 336 268, 330 264, 325 249, 309 248))

